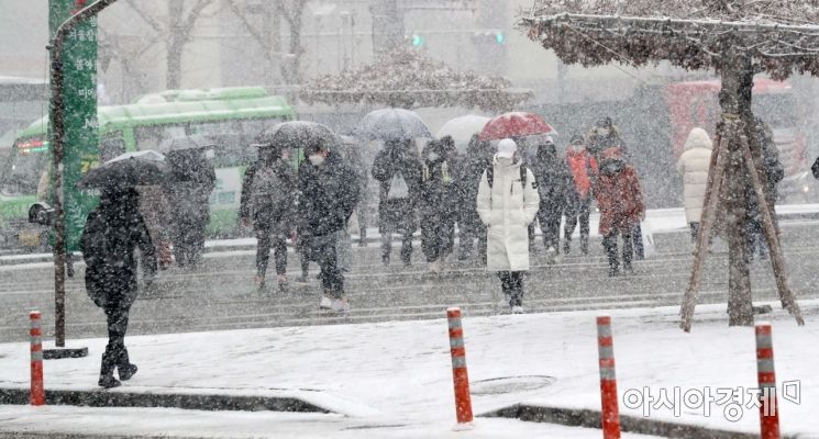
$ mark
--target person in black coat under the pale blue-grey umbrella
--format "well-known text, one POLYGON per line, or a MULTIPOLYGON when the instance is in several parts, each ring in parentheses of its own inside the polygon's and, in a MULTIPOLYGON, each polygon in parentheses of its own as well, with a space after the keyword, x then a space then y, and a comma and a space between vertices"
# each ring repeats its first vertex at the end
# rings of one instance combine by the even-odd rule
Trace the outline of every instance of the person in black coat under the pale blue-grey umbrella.
POLYGON ((392 234, 402 236, 401 260, 412 262, 412 234, 418 229, 416 207, 421 193, 421 162, 412 140, 390 140, 373 161, 373 178, 379 182, 378 229, 381 261, 389 264, 392 234))

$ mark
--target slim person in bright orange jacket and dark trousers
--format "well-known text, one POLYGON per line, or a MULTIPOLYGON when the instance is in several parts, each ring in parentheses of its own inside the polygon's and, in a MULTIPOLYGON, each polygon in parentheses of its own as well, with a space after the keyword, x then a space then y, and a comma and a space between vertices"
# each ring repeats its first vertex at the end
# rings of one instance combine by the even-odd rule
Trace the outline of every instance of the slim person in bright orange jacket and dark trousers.
POLYGON ((566 149, 566 164, 572 172, 574 193, 571 194, 569 210, 566 212, 565 240, 563 252, 572 249, 572 235, 580 226, 580 252, 588 255, 589 216, 591 215, 591 184, 597 178, 597 160, 584 146, 583 136, 573 136, 566 149))

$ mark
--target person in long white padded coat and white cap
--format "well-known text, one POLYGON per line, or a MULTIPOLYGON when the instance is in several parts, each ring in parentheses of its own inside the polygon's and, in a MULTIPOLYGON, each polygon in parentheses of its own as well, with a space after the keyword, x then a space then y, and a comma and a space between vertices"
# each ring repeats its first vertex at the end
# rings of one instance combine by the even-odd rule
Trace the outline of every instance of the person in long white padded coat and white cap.
POLYGON ((505 138, 478 188, 477 210, 488 230, 486 268, 497 272, 516 314, 523 312, 523 272, 529 270, 527 227, 540 206, 534 181, 532 171, 521 162, 514 140, 505 138))

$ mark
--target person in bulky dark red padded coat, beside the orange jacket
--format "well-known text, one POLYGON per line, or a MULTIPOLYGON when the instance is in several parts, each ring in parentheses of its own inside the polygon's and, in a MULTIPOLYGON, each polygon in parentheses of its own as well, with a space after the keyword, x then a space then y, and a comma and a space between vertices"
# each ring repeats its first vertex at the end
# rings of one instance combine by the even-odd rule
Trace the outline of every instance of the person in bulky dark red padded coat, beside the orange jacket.
POLYGON ((629 165, 622 148, 616 143, 600 153, 600 171, 594 184, 595 199, 600 209, 600 236, 609 259, 609 275, 620 273, 617 235, 622 235, 623 272, 632 273, 631 233, 645 214, 643 193, 637 171, 629 165))

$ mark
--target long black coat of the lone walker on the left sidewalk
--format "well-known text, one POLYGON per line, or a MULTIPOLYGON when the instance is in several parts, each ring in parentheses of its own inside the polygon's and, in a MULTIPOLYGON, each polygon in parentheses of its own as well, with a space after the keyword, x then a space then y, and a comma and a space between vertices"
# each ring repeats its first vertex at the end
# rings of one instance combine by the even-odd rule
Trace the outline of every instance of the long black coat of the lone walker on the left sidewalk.
POLYGON ((135 191, 103 196, 86 221, 80 250, 86 261, 86 291, 97 306, 126 309, 134 303, 137 247, 148 271, 156 271, 155 247, 137 199, 135 191))

